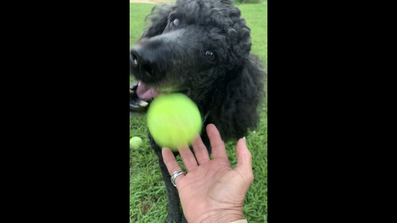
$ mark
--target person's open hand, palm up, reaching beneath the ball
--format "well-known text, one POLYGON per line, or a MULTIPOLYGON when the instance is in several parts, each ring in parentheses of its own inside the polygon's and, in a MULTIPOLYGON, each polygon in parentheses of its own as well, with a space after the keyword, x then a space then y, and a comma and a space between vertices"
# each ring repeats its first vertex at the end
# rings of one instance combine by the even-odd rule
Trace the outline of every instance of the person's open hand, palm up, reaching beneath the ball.
MULTIPOLYGON (((243 219, 245 194, 253 181, 252 156, 243 139, 237 142, 237 166, 230 166, 224 143, 212 124, 207 126, 213 160, 200 137, 193 142, 193 150, 180 148, 187 175, 179 175, 175 184, 183 213, 189 223, 229 223, 243 219)), ((170 174, 181 168, 171 150, 163 150, 163 158, 170 174)))

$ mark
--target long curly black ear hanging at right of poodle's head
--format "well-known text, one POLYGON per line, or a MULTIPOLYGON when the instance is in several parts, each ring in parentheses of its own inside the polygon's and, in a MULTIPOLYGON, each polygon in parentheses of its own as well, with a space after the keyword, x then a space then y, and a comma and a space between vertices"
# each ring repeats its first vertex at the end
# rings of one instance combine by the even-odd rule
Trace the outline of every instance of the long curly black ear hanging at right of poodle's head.
MULTIPOLYGON (((225 77, 224 96, 211 120, 222 138, 241 138, 259 122, 258 105, 264 102, 265 72, 261 60, 250 55, 225 77)), ((217 97, 217 96, 215 96, 217 97)), ((221 98, 221 96, 219 96, 221 98)))

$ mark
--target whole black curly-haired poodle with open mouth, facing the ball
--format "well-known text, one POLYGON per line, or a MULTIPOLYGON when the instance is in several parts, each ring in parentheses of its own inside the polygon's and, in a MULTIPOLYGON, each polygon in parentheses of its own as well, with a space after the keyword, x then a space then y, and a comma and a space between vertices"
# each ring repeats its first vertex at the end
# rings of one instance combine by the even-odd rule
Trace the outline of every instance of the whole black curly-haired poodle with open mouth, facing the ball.
MULTIPOLYGON (((264 69, 250 54, 251 30, 231 0, 176 0, 155 6, 151 21, 129 54, 130 112, 142 112, 162 92, 182 92, 196 102, 205 126, 214 123, 224 140, 241 138, 258 123, 264 96, 264 69)), ((169 222, 186 222, 179 196, 149 135, 168 196, 169 222)), ((177 154, 175 154, 176 156, 177 154)))

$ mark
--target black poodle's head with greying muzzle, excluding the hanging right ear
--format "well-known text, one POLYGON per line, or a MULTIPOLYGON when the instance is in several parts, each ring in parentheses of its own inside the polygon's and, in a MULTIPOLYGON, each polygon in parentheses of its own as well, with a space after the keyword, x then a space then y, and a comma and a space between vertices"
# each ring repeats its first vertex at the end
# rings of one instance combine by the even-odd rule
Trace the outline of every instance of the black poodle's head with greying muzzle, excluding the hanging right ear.
POLYGON ((192 88, 248 58, 250 29, 228 0, 177 0, 153 8, 151 25, 130 51, 143 99, 192 88))

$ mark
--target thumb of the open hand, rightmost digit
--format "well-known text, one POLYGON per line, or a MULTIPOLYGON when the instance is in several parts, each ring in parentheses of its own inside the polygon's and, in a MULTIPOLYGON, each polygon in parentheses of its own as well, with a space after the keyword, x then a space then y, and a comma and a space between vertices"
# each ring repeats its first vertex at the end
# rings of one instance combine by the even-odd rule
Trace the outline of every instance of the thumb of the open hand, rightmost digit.
POLYGON ((245 140, 243 138, 237 142, 236 157, 237 165, 235 169, 242 171, 242 173, 244 173, 243 175, 247 176, 247 180, 252 182, 254 180, 252 174, 252 155, 245 145, 245 140))

